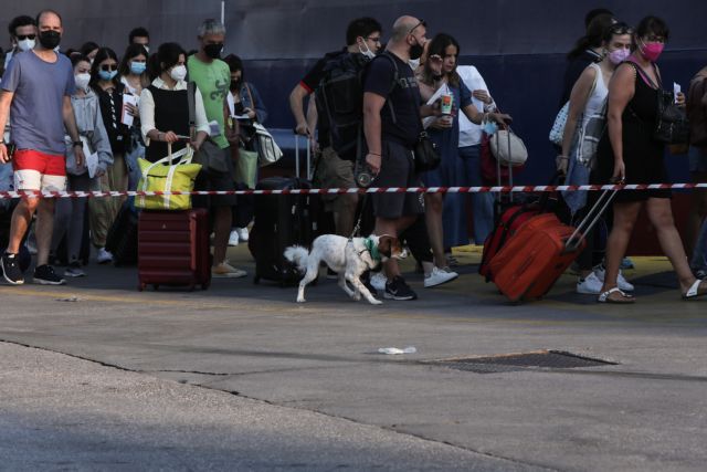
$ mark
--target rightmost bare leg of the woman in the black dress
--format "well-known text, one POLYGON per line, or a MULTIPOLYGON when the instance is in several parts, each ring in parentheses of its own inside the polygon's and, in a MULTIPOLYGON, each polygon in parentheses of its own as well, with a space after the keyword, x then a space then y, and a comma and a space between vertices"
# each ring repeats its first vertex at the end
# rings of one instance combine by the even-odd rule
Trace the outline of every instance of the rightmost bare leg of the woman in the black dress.
POLYGON ((661 249, 669 259, 671 264, 673 264, 673 269, 675 269, 680 281, 682 293, 685 293, 695 283, 696 279, 689 269, 683 241, 677 228, 675 228, 671 200, 667 198, 651 198, 646 203, 646 210, 658 237, 661 249))

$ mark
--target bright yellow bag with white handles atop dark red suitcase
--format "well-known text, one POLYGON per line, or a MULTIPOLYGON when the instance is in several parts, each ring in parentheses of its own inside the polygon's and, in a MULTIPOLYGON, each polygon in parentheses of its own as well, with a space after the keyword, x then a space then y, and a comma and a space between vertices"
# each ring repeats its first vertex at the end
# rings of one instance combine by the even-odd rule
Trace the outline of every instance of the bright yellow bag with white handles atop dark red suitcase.
MULTIPOLYGON (((140 166, 140 191, 192 191, 194 179, 201 170, 200 164, 191 164, 193 149, 189 146, 172 155, 171 145, 168 146, 169 156, 157 162, 138 159, 140 166), (175 162, 176 164, 169 164, 175 162)), ((190 195, 165 195, 145 197, 138 196, 135 206, 146 210, 189 210, 190 195)))

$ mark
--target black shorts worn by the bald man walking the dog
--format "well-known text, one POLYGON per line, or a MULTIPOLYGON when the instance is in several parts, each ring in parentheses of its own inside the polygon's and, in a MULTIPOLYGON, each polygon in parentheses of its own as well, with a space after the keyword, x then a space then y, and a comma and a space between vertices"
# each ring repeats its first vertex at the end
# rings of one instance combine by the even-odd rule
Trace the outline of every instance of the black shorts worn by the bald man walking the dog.
MULTIPOLYGON (((380 174, 373 180, 373 187, 420 187, 420 177, 415 172, 412 149, 398 143, 383 141, 381 149, 380 174)), ((373 193, 373 214, 378 218, 395 220, 400 217, 414 217, 424 212, 422 193, 373 193)))

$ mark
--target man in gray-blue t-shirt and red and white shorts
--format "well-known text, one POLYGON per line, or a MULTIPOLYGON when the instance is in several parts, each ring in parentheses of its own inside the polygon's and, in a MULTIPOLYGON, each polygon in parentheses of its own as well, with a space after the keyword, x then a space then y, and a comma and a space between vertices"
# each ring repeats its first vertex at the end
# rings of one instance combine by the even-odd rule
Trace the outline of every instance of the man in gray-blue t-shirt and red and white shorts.
MULTIPOLYGON (((53 10, 36 17, 39 42, 10 62, 0 83, 0 129, 11 113, 10 133, 17 148, 8 153, 0 140, 0 162, 12 159, 15 190, 63 190, 66 183, 64 129, 74 143, 76 165, 83 166, 83 146, 71 105, 74 73, 68 60, 53 50, 61 42, 62 19, 53 10)), ((54 200, 22 198, 12 214, 10 242, 0 259, 4 280, 24 283, 18 253, 32 216, 36 219, 36 269, 34 282, 62 285, 63 279, 48 264, 54 223, 54 200)))

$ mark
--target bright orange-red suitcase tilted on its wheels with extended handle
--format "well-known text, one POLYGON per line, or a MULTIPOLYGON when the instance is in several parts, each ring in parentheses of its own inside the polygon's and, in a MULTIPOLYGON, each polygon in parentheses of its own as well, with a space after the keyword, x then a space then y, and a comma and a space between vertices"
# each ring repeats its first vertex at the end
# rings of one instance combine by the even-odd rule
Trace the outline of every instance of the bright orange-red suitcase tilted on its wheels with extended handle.
POLYGON ((553 213, 527 220, 490 260, 490 276, 498 290, 511 302, 545 296, 582 252, 587 244, 582 233, 597 224, 615 195, 604 191, 577 229, 553 213))

